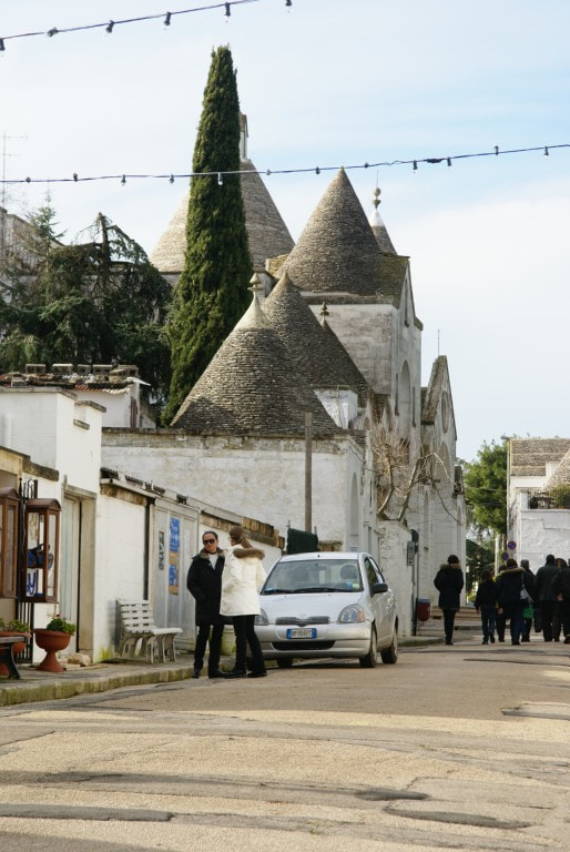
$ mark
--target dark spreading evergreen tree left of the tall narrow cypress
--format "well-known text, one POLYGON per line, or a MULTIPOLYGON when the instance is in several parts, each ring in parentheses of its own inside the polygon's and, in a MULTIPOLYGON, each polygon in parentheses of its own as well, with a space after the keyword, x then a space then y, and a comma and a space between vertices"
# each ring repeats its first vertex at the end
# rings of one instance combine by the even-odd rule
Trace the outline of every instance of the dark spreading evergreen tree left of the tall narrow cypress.
POLYGON ((30 223, 24 251, 2 276, 0 369, 26 362, 136 364, 155 402, 163 400, 171 292, 143 248, 102 214, 89 241, 75 245, 57 242, 48 207, 30 223))

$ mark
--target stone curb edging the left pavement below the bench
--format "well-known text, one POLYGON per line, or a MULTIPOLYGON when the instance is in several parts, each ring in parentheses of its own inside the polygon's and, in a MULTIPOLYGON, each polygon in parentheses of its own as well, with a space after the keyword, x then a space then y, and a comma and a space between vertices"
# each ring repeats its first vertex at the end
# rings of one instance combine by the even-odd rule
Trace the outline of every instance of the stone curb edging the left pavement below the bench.
POLYGON ((58 679, 51 682, 26 683, 14 681, 2 683, 0 687, 0 707, 24 704, 33 701, 53 701, 61 698, 73 698, 96 692, 108 692, 122 687, 136 687, 146 683, 171 683, 186 680, 192 672, 192 666, 176 666, 156 670, 128 671, 110 673, 101 678, 58 679))

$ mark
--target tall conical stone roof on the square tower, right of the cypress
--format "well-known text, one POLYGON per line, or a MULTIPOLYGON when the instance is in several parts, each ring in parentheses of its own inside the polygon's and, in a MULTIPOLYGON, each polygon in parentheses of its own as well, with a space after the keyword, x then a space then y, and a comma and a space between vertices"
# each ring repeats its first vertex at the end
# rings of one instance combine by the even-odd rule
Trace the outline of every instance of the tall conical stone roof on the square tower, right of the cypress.
POLYGON ((379 291, 380 250, 344 169, 317 204, 286 271, 299 290, 370 296, 379 291))

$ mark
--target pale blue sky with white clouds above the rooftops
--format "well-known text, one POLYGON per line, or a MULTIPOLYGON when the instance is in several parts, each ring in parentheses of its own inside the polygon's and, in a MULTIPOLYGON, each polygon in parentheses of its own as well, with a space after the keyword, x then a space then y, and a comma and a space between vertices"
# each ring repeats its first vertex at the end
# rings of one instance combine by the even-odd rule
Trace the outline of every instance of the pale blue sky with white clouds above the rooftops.
MULTIPOLYGON (((214 3, 170 11, 200 6, 214 3)), ((410 257, 423 384, 448 358, 459 457, 505 435, 570 437, 567 0, 256 0, 170 27, 165 11, 160 0, 2 3, 2 178, 50 183, 0 184, 0 204, 26 215, 49 190, 64 240, 102 212, 151 253, 187 181, 58 179, 187 174, 211 52, 230 44, 250 158, 312 170, 264 178, 295 240, 338 166, 367 214, 378 183, 410 257), (110 34, 8 38, 152 14, 110 34), (495 146, 539 150, 460 156, 495 146), (420 162, 434 158, 445 159, 420 162), (399 160, 418 169, 350 168, 399 160)))

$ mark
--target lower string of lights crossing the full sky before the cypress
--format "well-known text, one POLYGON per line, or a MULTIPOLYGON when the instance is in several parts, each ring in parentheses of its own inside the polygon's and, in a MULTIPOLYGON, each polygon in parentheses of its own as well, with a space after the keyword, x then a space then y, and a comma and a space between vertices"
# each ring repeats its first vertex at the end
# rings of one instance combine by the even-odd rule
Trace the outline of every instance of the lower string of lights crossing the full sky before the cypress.
MULTIPOLYGON (((236 0, 237 2, 246 2, 250 0, 236 0)), ((322 166, 307 166, 302 169, 265 169, 265 170, 254 170, 254 169, 247 169, 244 171, 215 171, 215 172, 184 172, 184 173, 174 173, 174 172, 166 172, 164 174, 129 174, 126 172, 119 173, 119 174, 100 174, 100 175, 89 175, 89 176, 81 176, 78 172, 73 172, 71 176, 69 178, 4 178, 0 179, 0 184, 18 184, 18 183, 84 183, 89 181, 120 181, 120 183, 124 186, 126 184, 126 181, 131 180, 157 180, 163 181, 167 180, 169 183, 174 183, 175 180, 187 180, 193 178, 215 178, 217 180, 217 183, 220 185, 223 185, 224 178, 228 178, 231 175, 241 175, 243 178, 247 178, 248 174, 257 174, 257 175, 267 175, 271 176, 272 174, 306 174, 314 172, 315 174, 320 174, 322 172, 337 172, 340 168, 343 168, 345 171, 352 171, 355 169, 381 169, 381 168, 391 168, 395 165, 411 165, 413 170, 416 172, 418 171, 418 168, 420 164, 426 163, 429 165, 437 165, 440 163, 446 163, 448 166, 452 164, 456 160, 474 160, 477 158, 487 158, 487 156, 505 156, 507 154, 525 154, 525 153, 536 153, 541 152, 543 156, 550 156, 551 151, 557 151, 562 148, 570 148, 570 142, 562 142, 557 145, 535 145, 532 148, 511 148, 507 149, 505 151, 501 151, 498 145, 495 145, 492 151, 479 151, 479 152, 472 152, 472 153, 464 153, 464 154, 452 154, 451 156, 425 156, 425 158, 417 158, 415 160, 386 160, 383 162, 377 163, 355 163, 353 165, 322 165, 322 166)))

